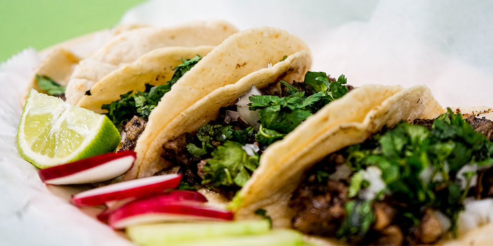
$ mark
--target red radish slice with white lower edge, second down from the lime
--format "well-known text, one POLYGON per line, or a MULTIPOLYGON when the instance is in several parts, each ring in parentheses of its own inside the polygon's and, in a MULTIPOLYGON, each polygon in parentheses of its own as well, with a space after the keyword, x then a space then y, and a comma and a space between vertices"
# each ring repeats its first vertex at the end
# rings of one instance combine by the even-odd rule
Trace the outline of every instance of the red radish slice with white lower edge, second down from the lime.
POLYGON ((176 188, 180 181, 181 174, 167 174, 110 184, 80 192, 72 196, 72 203, 79 207, 94 206, 107 201, 149 196, 176 188))

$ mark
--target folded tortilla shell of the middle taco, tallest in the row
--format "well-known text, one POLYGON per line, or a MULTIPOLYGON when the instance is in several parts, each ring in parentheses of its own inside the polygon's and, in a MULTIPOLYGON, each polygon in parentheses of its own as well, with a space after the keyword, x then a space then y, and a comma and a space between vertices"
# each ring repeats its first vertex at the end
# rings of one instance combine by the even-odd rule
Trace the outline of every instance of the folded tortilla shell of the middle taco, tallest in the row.
POLYGON ((210 103, 203 98, 211 101, 211 96, 219 95, 213 103, 232 103, 248 90, 251 84, 246 83, 253 78, 255 84, 276 78, 299 81, 310 65, 307 45, 287 31, 253 28, 231 35, 185 73, 151 111, 137 140, 137 160, 125 180, 152 176, 162 170, 167 166, 160 157, 164 152, 162 144, 197 130, 215 117, 216 113, 207 108, 210 103))

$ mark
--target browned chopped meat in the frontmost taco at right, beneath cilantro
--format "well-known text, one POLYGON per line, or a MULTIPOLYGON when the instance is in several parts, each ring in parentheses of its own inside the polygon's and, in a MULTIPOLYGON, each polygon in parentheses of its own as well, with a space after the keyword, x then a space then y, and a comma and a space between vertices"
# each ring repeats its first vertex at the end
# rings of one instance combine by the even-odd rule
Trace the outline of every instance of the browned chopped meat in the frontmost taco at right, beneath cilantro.
MULTIPOLYGON (((465 121, 470 123, 476 132, 489 140, 492 139, 492 121, 474 116, 466 118, 465 121)), ((414 124, 431 128, 433 122, 433 119, 416 119, 414 124)), ((340 237, 338 230, 347 216, 345 206, 352 200, 361 201, 357 196, 348 197, 351 185, 349 178, 331 179, 338 166, 346 165, 347 155, 346 149, 329 154, 307 172, 305 180, 298 186, 289 202, 289 207, 294 212, 294 229, 311 235, 340 237)), ((478 172, 478 182, 476 187, 470 190, 469 195, 471 194, 478 199, 493 196, 493 167, 478 172)), ((399 214, 399 211, 406 207, 407 204, 397 203, 388 196, 384 196, 380 201, 376 200, 372 205, 374 219, 368 233, 362 238, 344 239, 356 245, 401 246, 432 244, 443 236, 442 222, 437 215, 439 212, 424 208, 421 219, 417 221, 419 223, 410 224, 403 222, 405 215, 399 214)))

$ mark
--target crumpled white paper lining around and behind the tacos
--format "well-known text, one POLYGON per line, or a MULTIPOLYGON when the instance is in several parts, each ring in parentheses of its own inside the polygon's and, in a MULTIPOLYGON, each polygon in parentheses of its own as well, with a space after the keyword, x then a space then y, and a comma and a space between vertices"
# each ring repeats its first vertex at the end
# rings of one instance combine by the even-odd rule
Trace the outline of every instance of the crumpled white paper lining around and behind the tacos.
MULTIPOLYGON (((489 2, 364 1, 149 1, 122 23, 163 27, 187 20, 221 19, 240 30, 283 28, 310 46, 312 70, 349 84, 426 84, 443 106, 493 106, 493 4, 489 2)), ((70 195, 84 187, 46 186, 16 148, 20 98, 39 57, 28 49, 0 65, 0 244, 131 245, 78 209, 70 195)))

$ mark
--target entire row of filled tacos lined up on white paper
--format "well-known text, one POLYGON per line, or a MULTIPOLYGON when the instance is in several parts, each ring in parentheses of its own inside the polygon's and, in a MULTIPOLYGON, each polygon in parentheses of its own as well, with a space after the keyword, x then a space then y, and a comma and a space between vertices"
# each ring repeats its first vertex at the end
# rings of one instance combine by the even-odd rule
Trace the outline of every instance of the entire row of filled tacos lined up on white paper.
POLYGON ((308 46, 276 28, 138 27, 82 60, 52 54, 44 63, 69 68, 36 79, 70 75, 67 101, 121 128, 137 152, 123 180, 181 173, 237 219, 269 216, 323 245, 492 230, 491 213, 467 210, 493 203, 489 109, 446 111, 424 85, 352 88, 310 72, 308 46))

